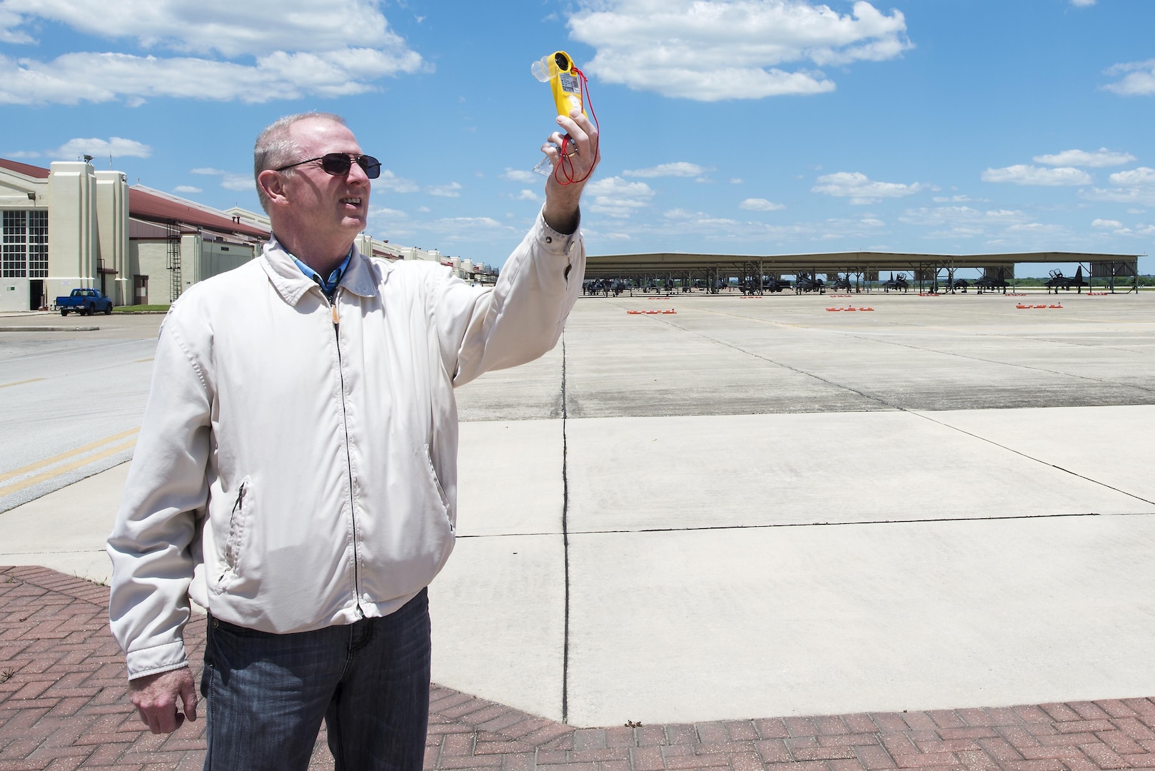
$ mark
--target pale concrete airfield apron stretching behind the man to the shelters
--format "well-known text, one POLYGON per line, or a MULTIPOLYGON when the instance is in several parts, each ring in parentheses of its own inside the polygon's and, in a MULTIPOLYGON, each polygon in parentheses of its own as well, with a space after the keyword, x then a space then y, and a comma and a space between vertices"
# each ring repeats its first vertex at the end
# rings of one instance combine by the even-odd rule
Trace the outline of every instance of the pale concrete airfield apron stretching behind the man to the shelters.
MULTIPOLYGON (((1058 299, 581 299, 459 391, 434 680, 574 725, 1155 691, 1155 296, 1058 299)), ((125 468, 0 563, 99 578, 125 468)))

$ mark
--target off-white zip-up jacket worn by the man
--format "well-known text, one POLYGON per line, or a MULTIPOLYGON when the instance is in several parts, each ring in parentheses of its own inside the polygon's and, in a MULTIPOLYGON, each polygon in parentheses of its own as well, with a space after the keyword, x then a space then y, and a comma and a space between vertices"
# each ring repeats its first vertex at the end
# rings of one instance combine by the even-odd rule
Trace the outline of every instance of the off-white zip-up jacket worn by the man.
POLYGON ((492 288, 355 253, 330 305, 273 240, 186 291, 109 539, 128 676, 186 663, 189 596, 286 633, 426 586, 454 542, 453 388, 553 348, 584 264, 538 215, 492 288))

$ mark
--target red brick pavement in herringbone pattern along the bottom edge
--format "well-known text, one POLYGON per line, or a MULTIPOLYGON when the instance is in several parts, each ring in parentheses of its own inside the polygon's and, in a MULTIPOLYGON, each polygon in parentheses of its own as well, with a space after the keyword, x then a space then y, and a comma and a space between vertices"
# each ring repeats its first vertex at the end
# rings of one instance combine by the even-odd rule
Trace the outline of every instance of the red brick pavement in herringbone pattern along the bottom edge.
MULTIPOLYGON (((200 769, 203 720, 154 736, 125 698, 107 588, 0 568, 0 771, 200 769)), ((199 667, 203 624, 186 643, 199 667)), ((1155 699, 579 728, 433 685, 425 769, 1155 769, 1155 699)), ((323 731, 314 769, 331 769, 323 731)))

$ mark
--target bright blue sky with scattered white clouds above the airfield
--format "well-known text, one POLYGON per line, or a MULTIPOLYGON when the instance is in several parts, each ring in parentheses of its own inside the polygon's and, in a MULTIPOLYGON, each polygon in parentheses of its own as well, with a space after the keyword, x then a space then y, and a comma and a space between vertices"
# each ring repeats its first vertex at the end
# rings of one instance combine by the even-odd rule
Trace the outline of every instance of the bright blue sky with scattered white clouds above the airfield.
POLYGON ((1152 30, 1150 0, 0 0, 0 156, 255 210, 256 133, 338 112, 386 170, 374 236, 500 265, 565 49, 593 254, 1141 254, 1152 30))

